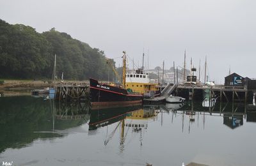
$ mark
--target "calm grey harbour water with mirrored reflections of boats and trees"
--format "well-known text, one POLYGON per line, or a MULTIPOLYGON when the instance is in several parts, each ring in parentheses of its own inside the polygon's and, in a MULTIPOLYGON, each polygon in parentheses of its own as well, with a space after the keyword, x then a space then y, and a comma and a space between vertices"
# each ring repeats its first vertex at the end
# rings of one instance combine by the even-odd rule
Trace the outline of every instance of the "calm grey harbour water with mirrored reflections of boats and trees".
POLYGON ((0 163, 255 165, 256 113, 243 104, 90 110, 16 96, 0 97, 0 117, 0 163))

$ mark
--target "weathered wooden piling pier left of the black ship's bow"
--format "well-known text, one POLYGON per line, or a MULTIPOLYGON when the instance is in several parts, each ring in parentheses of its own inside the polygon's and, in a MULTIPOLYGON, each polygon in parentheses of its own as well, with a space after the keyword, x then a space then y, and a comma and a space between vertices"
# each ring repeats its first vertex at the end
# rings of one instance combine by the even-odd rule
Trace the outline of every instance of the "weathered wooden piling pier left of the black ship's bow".
POLYGON ((58 84, 55 89, 55 100, 61 102, 89 100, 88 84, 58 84))

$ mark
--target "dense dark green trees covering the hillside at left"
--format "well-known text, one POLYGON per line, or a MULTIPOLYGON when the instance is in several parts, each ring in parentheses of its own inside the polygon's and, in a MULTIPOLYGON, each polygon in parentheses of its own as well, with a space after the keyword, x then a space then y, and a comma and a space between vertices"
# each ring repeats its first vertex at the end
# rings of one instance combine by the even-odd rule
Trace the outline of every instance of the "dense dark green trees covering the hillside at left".
POLYGON ((108 79, 103 51, 54 28, 37 33, 33 27, 0 20, 0 77, 50 79, 54 54, 58 77, 63 72, 65 79, 108 79))

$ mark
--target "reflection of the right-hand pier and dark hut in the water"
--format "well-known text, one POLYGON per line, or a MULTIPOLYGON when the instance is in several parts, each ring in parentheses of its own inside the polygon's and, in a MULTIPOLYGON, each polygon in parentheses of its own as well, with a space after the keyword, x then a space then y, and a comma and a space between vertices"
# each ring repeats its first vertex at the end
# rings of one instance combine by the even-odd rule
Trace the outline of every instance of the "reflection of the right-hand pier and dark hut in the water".
MULTIPOLYGON (((189 117, 189 132, 190 126, 195 122, 196 116, 203 117, 205 125, 206 116, 218 116, 223 117, 223 124, 227 125, 231 129, 235 129, 242 126, 244 120, 247 122, 256 122, 256 112, 248 112, 244 103, 222 103, 216 102, 214 105, 204 107, 201 102, 190 101, 182 108, 173 110, 172 114, 182 115, 182 131, 184 127, 184 116, 189 117)), ((198 121, 198 119, 197 119, 198 121)))

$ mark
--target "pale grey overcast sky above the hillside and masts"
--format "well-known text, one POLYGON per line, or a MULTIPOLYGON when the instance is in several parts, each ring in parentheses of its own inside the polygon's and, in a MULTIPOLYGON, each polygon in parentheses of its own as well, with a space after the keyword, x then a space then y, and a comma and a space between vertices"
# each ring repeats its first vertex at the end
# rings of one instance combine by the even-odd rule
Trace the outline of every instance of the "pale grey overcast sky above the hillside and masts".
MULTIPOLYGON (((256 1, 247 0, 93 0, 0 1, 0 19, 25 24, 42 33, 57 31, 104 50, 108 57, 122 51, 149 67, 187 66, 190 58, 218 83, 231 72, 256 78, 256 1), (149 54, 149 55, 148 55, 149 54), (147 64, 147 62, 145 62, 147 64)), ((129 60, 131 62, 131 59, 129 60)), ((130 63, 130 66, 132 64, 130 63)))

